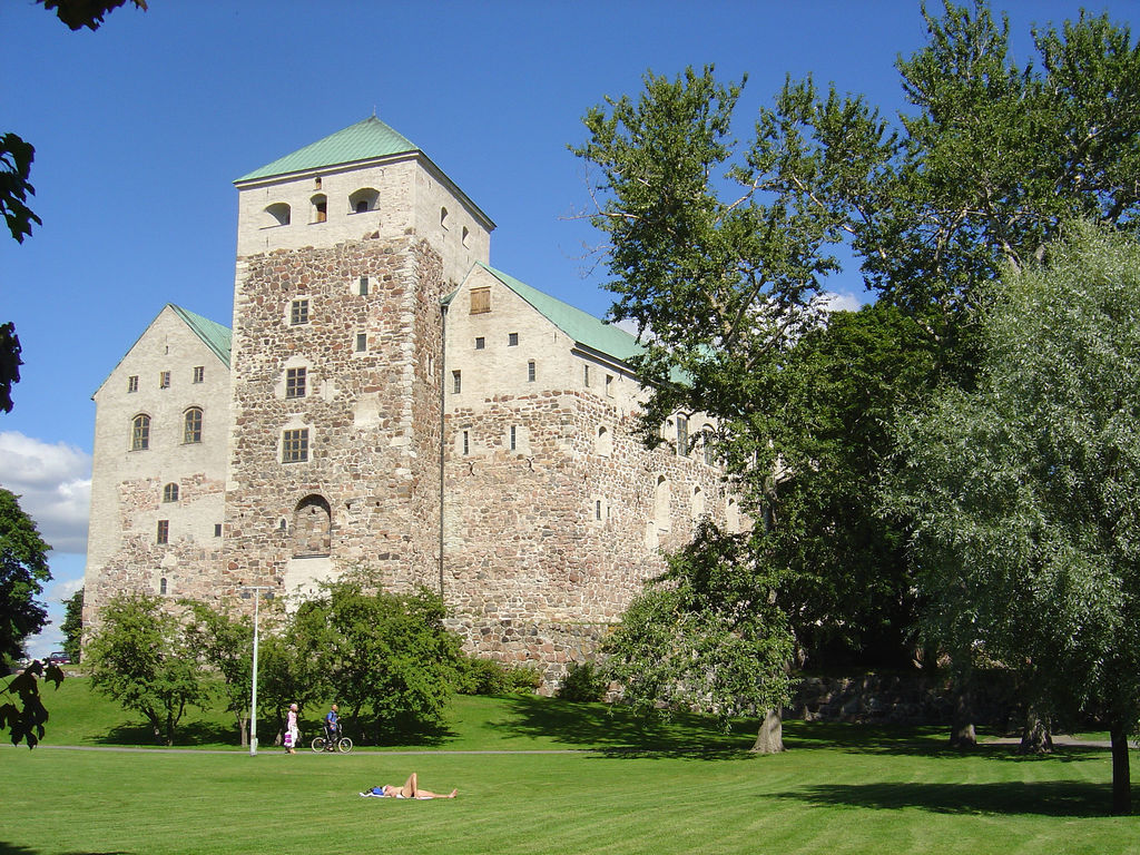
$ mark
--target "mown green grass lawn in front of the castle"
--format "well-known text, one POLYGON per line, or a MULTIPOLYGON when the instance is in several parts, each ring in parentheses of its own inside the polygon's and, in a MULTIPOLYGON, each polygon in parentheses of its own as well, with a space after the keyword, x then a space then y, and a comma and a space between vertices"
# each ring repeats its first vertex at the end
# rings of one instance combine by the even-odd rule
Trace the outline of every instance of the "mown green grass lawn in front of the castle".
POLYGON ((725 735, 698 718, 643 727, 596 705, 461 698, 442 731, 349 756, 124 752, 90 750, 99 728, 130 733, 123 714, 82 698, 82 681, 63 691, 48 691, 43 747, 0 749, 0 854, 1140 852, 1140 817, 1107 815, 1107 750, 962 755, 929 728, 793 722, 791 750, 755 757, 750 723, 725 735), (78 709, 98 726, 64 720, 78 709), (593 750, 450 752, 568 748, 593 750), (412 771, 459 798, 356 795, 412 771))

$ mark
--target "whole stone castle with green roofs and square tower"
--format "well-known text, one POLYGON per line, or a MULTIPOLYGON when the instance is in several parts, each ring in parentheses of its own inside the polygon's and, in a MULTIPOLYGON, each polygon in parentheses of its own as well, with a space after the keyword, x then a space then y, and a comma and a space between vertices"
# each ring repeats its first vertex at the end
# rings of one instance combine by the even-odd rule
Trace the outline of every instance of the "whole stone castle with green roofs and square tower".
POLYGON ((660 549, 739 527, 700 414, 634 435, 634 336, 490 267, 491 220, 375 116, 235 185, 233 329, 166 306, 93 396, 88 626, 372 568, 553 683, 660 549))

